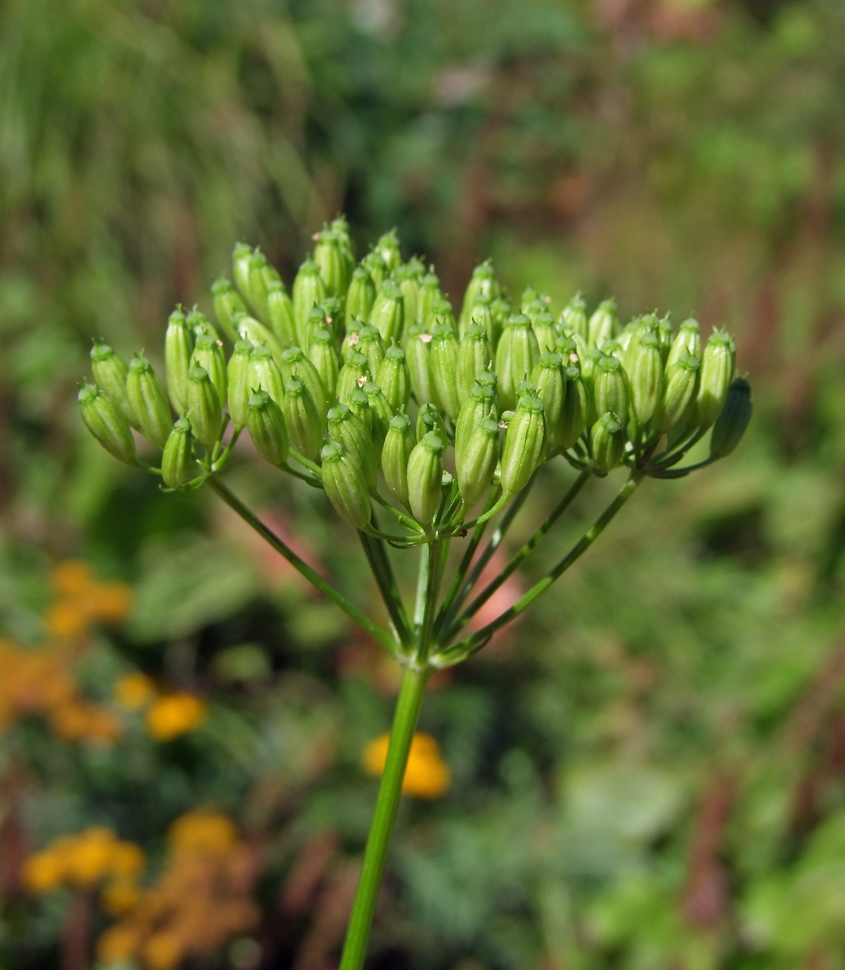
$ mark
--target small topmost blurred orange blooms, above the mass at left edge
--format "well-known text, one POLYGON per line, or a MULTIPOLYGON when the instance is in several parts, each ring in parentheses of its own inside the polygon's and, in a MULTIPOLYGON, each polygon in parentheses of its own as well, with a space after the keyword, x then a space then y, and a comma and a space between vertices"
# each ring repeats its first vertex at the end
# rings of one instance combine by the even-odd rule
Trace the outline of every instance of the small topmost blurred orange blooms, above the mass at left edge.
POLYGON ((53 569, 55 599, 45 616, 49 632, 63 639, 86 633, 95 622, 119 623, 132 606, 132 592, 125 583, 98 583, 91 567, 78 560, 53 569))

